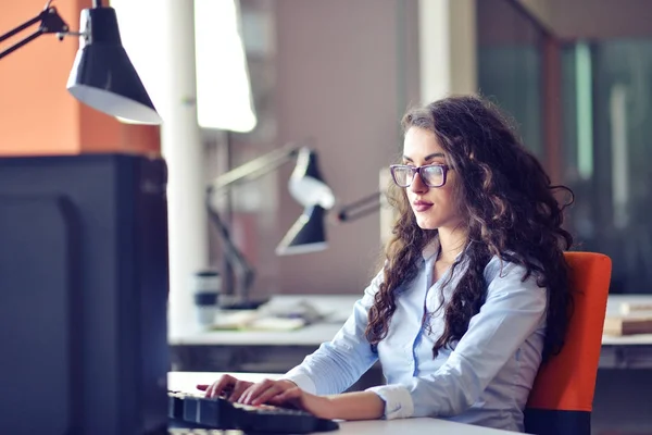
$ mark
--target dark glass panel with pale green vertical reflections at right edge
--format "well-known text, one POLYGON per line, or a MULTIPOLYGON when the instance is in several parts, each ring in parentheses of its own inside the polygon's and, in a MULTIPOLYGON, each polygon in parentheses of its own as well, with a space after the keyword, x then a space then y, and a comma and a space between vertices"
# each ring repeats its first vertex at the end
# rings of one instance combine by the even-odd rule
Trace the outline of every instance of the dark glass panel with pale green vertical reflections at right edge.
POLYGON ((574 41, 562 59, 578 248, 612 258, 612 293, 652 293, 652 40, 574 41))

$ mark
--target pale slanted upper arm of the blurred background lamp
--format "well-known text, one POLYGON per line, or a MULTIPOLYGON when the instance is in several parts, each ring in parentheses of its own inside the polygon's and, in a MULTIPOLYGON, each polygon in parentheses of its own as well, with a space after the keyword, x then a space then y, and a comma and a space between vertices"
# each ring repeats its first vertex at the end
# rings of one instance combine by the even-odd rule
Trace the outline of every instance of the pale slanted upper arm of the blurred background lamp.
POLYGON ((296 144, 288 144, 225 172, 209 183, 209 195, 215 194, 230 185, 249 182, 272 172, 294 159, 300 149, 301 147, 296 144))

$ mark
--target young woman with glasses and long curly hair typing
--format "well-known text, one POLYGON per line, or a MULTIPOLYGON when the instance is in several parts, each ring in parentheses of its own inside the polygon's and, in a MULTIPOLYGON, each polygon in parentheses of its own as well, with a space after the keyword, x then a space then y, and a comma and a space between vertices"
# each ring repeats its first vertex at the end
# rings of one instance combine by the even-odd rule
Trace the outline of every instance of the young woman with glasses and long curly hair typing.
POLYGON ((329 419, 438 417, 523 431, 539 365, 564 343, 563 207, 499 111, 451 97, 403 119, 385 263, 336 337, 280 381, 223 376, 206 396, 329 419), (387 384, 346 393, 380 360, 387 384))

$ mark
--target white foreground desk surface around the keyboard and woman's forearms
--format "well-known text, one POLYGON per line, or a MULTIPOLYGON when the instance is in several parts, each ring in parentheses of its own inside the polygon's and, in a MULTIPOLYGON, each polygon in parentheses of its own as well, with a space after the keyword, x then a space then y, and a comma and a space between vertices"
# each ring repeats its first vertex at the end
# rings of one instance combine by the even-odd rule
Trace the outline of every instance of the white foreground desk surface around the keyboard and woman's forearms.
MULTIPOLYGON (((172 390, 197 393, 197 384, 211 384, 222 373, 211 372, 170 372, 167 387, 172 390)), ((240 373, 236 376, 252 382, 265 377, 274 378, 276 374, 240 373)), ((455 435, 500 435, 514 432, 499 431, 469 424, 453 423, 438 419, 402 419, 402 420, 371 420, 356 422, 340 422, 336 435, 384 435, 384 434, 455 434, 455 435)))

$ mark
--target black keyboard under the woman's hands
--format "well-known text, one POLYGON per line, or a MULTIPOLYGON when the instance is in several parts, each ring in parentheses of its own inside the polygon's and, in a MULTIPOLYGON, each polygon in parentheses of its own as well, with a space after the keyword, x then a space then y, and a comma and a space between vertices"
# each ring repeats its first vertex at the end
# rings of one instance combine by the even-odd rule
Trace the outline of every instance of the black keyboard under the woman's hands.
POLYGON ((173 428, 239 430, 251 434, 309 434, 336 431, 339 424, 309 412, 271 406, 252 407, 224 398, 168 391, 173 428))

